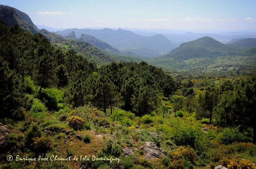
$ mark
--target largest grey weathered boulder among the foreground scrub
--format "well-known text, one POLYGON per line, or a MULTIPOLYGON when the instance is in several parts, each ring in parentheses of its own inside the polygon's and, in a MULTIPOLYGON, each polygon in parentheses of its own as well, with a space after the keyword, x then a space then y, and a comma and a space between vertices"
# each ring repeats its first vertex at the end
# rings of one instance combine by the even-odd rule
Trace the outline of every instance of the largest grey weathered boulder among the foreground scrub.
POLYGON ((144 149, 147 159, 162 158, 167 155, 167 152, 163 148, 157 147, 152 141, 145 142, 145 146, 142 149, 144 149))

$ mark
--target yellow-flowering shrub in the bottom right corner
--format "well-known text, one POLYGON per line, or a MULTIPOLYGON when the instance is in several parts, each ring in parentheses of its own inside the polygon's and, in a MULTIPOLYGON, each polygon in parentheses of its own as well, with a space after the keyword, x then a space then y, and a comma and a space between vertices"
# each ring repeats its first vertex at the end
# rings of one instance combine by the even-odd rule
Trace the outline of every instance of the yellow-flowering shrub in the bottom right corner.
POLYGON ((252 169, 254 168, 252 161, 246 159, 233 158, 228 164, 229 169, 252 169))

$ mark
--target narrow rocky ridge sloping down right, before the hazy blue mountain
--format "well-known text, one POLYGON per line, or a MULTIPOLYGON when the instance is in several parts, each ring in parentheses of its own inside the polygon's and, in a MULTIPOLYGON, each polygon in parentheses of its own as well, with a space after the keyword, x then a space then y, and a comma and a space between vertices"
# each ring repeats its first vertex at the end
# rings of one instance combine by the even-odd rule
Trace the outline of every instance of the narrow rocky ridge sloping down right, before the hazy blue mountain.
POLYGON ((107 44, 106 42, 97 39, 93 36, 90 35, 85 35, 85 34, 81 34, 79 40, 87 42, 92 44, 93 46, 99 47, 102 50, 107 50, 107 51, 112 51, 115 53, 120 53, 120 51, 112 46, 110 46, 109 44, 107 44))

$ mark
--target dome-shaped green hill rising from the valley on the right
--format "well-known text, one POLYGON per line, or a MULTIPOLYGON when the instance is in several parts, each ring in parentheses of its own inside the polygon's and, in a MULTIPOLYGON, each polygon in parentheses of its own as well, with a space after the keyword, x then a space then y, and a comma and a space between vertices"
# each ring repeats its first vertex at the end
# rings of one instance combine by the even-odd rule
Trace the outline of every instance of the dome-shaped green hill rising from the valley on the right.
POLYGON ((235 51, 238 51, 238 49, 233 46, 224 45, 211 37, 203 37, 190 42, 185 42, 171 53, 161 57, 188 60, 190 58, 232 54, 235 51))

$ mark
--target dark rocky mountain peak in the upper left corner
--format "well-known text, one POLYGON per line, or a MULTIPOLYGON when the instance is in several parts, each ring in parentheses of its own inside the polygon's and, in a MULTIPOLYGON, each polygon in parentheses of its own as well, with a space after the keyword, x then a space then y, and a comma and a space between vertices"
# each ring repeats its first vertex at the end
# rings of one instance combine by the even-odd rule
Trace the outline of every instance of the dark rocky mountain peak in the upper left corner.
POLYGON ((39 32, 39 29, 33 24, 29 16, 13 7, 0 5, 0 19, 4 21, 7 26, 18 24, 23 30, 32 33, 39 32))

